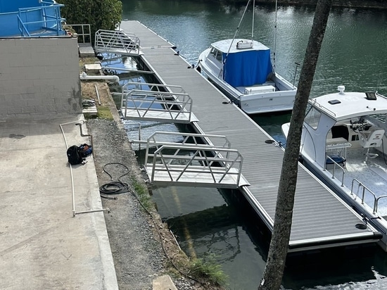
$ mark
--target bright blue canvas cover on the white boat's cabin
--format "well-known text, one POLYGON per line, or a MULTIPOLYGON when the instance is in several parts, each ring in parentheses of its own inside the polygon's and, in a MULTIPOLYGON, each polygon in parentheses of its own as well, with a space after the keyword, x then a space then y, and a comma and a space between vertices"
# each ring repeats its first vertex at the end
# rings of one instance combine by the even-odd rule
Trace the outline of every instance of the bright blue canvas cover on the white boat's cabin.
MULTIPOLYGON (((223 59, 227 53, 223 53, 223 59)), ((232 87, 263 84, 272 73, 270 49, 229 53, 223 67, 223 80, 232 87)))

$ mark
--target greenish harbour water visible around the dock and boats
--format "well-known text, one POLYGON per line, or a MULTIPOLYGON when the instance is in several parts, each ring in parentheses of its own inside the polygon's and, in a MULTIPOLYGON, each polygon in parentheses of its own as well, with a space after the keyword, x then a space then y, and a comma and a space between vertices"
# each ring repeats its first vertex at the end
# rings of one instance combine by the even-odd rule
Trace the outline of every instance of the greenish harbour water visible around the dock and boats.
MULTIPOLYGON (((246 1, 247 2, 247 1, 246 1)), ((177 46, 180 55, 195 64, 211 42, 233 37, 244 6, 212 1, 123 0, 123 18, 139 20, 177 46)), ((300 67, 314 17, 311 8, 272 6, 255 8, 255 39, 276 51, 277 72, 298 82, 300 67), (274 42, 274 34, 277 40, 274 42)), ((248 11, 239 37, 250 37, 248 11)), ((317 63, 311 96, 346 90, 378 90, 387 94, 387 12, 334 9, 329 16, 317 63)), ((125 30, 125 21, 121 28, 125 30)), ((130 31, 128 31, 130 32, 130 31)), ((281 124, 290 114, 252 116, 278 141, 285 142, 281 124)), ((150 124, 158 130, 160 124, 150 124)), ((175 125, 162 130, 185 130, 175 125)), ((152 130, 151 130, 152 131, 152 130)), ((135 131, 134 131, 135 132, 135 131)), ((257 289, 265 268, 268 241, 265 227, 248 212, 245 203, 231 202, 237 191, 166 187, 153 190, 158 211, 177 235, 189 256, 214 253, 229 275, 229 289, 257 289)), ((334 222, 334 221, 328 221, 334 222)), ((300 256, 286 268, 285 289, 387 289, 387 253, 379 248, 331 250, 324 256, 300 256), (385 281, 386 280, 386 281, 385 281)))

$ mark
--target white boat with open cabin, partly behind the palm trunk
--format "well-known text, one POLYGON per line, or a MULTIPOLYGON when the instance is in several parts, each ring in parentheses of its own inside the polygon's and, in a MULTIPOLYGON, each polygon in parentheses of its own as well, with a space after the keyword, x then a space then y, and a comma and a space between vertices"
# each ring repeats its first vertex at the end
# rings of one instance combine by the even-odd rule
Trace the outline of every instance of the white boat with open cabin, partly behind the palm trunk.
MULTIPOLYGON (((300 160, 381 233, 387 251, 387 98, 377 92, 308 101, 300 160)), ((285 137, 289 123, 282 125, 285 137)), ((312 190, 312 189, 311 189, 312 190)))

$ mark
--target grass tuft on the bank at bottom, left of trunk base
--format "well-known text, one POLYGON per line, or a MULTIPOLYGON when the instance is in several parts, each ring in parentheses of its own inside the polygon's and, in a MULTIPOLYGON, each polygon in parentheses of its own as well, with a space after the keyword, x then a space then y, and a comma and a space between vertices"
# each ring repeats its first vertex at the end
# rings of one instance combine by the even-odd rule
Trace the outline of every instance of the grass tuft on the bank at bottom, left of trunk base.
POLYGON ((216 262, 214 254, 191 260, 191 275, 216 286, 225 286, 228 279, 228 276, 222 270, 222 266, 216 262))

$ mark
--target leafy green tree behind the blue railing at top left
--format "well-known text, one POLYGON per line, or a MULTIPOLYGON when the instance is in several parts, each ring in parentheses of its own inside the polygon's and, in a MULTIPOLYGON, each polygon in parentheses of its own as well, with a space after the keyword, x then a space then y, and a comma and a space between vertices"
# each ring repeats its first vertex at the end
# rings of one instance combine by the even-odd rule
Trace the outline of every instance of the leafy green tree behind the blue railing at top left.
POLYGON ((120 0, 61 0, 61 15, 68 25, 89 24, 91 42, 97 30, 115 30, 122 20, 120 0))

